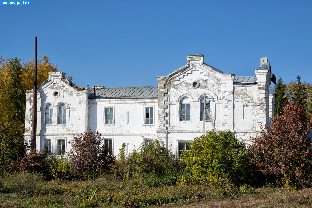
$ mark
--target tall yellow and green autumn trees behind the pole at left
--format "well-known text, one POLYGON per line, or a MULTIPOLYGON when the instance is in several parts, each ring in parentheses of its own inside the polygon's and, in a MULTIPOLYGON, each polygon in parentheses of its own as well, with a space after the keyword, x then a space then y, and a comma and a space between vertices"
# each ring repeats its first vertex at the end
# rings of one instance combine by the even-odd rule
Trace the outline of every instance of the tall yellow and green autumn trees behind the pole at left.
MULTIPOLYGON (((58 72, 57 64, 51 65, 44 55, 38 60, 38 84, 48 79, 49 72, 58 72)), ((0 167, 8 168, 10 161, 23 157, 25 125, 25 90, 32 89, 34 60, 22 62, 0 55, 0 167)))

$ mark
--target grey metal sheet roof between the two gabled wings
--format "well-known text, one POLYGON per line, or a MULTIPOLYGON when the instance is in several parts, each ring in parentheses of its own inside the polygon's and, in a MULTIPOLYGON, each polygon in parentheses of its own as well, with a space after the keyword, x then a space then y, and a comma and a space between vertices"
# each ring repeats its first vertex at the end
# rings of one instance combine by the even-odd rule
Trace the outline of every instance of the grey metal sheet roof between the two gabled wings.
POLYGON ((158 86, 152 87, 112 87, 95 88, 89 94, 90 99, 109 99, 109 98, 158 98, 158 86))

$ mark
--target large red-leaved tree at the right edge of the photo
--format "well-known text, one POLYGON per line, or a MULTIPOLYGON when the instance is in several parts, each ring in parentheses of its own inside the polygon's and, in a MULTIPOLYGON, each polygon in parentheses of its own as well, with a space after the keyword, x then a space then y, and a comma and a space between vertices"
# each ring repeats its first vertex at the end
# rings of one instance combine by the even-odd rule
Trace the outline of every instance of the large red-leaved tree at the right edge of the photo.
POLYGON ((307 138, 311 124, 312 116, 290 102, 283 114, 273 116, 270 127, 261 126, 261 136, 251 137, 251 161, 263 173, 284 176, 285 180, 289 175, 300 181, 312 171, 312 141, 307 138))

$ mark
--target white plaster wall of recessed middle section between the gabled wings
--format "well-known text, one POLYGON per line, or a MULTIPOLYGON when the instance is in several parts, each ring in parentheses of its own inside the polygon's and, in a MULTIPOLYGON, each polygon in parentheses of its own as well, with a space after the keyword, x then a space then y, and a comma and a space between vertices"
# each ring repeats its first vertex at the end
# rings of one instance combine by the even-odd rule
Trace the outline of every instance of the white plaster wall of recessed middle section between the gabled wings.
POLYGON ((140 146, 143 137, 157 136, 158 99, 90 99, 88 126, 102 133, 104 139, 112 139, 112 148, 118 154, 123 142, 129 144, 129 152, 140 146), (113 124, 105 124, 105 108, 113 108, 113 124), (153 107, 153 124, 145 124, 145 107, 153 107), (156 112, 155 112, 156 111, 156 112), (129 123, 128 123, 129 112, 129 123))

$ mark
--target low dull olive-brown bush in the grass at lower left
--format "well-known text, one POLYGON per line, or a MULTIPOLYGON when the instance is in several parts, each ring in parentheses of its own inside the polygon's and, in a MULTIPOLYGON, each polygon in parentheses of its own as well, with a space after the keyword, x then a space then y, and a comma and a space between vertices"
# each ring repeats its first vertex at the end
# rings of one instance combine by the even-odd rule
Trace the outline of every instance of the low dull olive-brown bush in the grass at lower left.
POLYGON ((7 183, 13 193, 20 198, 40 193, 44 177, 41 173, 19 172, 7 177, 7 183))

